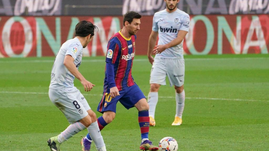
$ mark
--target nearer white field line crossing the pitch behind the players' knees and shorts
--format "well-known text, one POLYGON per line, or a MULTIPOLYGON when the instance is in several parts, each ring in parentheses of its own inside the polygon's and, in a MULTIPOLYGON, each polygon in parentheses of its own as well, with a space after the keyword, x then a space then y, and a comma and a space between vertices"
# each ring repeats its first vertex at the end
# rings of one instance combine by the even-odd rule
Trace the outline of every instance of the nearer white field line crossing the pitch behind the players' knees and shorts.
MULTIPOLYGON (((44 92, 10 92, 10 91, 0 91, 0 93, 8 93, 8 94, 45 94, 44 92)), ((83 94, 85 96, 102 96, 102 94, 83 94)), ((174 96, 159 96, 159 98, 169 98, 174 99, 174 96)), ((201 97, 186 97, 186 99, 198 99, 198 100, 227 100, 227 101, 259 101, 259 102, 269 102, 269 100, 248 100, 248 99, 225 99, 225 98, 201 98, 201 97)))

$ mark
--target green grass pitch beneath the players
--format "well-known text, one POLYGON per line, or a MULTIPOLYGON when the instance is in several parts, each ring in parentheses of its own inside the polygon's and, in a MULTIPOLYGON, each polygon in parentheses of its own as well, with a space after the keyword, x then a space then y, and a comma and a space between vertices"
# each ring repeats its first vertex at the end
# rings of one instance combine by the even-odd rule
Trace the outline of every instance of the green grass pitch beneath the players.
MULTIPOLYGON (((91 108, 101 99, 105 57, 84 57, 80 72, 96 86, 84 92, 91 108)), ((132 75, 147 96, 151 65, 135 56, 132 75)), ((48 98, 54 57, 0 59, 0 150, 49 151, 48 138, 69 123, 48 98)), ((185 110, 183 124, 171 126, 175 91, 161 86, 149 138, 154 145, 166 136, 178 141, 180 151, 268 150, 269 55, 185 56, 185 110)), ((108 151, 138 151, 140 129, 137 110, 120 103, 115 120, 101 131, 108 151)), ((62 151, 80 150, 80 132, 61 145, 62 151)), ((95 150, 95 146, 92 146, 95 150)))

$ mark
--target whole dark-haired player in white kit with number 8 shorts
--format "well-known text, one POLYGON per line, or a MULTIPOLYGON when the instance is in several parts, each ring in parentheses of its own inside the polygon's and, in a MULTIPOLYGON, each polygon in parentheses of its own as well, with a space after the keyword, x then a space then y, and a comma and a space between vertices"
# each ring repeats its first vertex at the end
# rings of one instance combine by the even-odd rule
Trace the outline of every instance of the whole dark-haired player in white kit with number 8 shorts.
POLYGON ((76 77, 86 92, 95 86, 83 77, 78 68, 82 60, 82 49, 92 40, 96 29, 91 22, 80 21, 75 28, 76 37, 66 41, 56 55, 51 71, 49 99, 63 112, 70 125, 61 134, 48 140, 51 151, 59 151, 63 142, 86 128, 97 150, 106 151, 96 115, 73 84, 76 77))

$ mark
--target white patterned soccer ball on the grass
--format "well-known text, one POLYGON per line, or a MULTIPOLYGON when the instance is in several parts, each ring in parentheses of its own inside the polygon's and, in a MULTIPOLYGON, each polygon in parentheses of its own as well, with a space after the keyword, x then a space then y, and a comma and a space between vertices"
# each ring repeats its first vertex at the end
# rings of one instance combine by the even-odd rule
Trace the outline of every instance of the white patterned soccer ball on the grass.
POLYGON ((160 151, 177 151, 178 142, 172 137, 165 137, 159 143, 160 151))

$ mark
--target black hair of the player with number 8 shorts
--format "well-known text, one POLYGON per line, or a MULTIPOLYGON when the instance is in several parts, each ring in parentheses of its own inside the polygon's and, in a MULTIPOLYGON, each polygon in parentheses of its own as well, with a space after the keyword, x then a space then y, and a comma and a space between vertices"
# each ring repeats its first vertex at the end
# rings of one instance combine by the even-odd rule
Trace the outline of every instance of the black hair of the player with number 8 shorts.
POLYGON ((98 28, 93 25, 93 23, 90 21, 82 20, 76 25, 75 36, 86 37, 91 34, 91 37, 93 37, 96 30, 98 30, 98 28))

